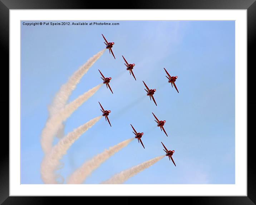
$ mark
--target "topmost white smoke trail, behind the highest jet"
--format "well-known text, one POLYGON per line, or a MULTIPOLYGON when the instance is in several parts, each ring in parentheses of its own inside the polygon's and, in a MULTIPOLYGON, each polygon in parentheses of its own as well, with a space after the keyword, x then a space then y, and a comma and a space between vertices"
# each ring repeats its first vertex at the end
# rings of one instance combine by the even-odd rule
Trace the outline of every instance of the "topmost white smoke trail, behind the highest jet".
POLYGON ((84 65, 82 65, 68 80, 67 83, 63 84, 53 99, 53 103, 49 107, 50 117, 58 113, 63 109, 71 95, 72 91, 76 88, 81 78, 87 73, 90 67, 102 56, 106 49, 98 52, 96 55, 91 57, 84 65))

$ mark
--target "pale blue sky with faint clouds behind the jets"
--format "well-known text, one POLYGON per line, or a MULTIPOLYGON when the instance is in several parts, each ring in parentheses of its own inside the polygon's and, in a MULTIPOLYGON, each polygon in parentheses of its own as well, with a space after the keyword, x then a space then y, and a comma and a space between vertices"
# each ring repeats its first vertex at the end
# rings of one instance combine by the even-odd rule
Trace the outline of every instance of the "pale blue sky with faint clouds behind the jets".
POLYGON ((65 134, 99 116, 98 101, 112 111, 112 127, 102 118, 84 133, 61 160, 65 166, 57 173, 67 178, 94 155, 133 137, 132 124, 144 132, 146 149, 133 140, 84 183, 98 184, 163 155, 163 142, 175 150, 177 167, 166 157, 125 184, 234 184, 235 21, 113 22, 120 25, 23 26, 21 22, 21 184, 43 183, 40 135, 48 106, 60 86, 104 48, 101 34, 115 42, 116 60, 106 51, 69 101, 102 82, 98 69, 112 77, 114 94, 102 86, 67 119, 65 134), (126 71, 122 55, 136 64, 137 81, 126 71), (178 76, 179 93, 167 82, 163 67, 178 76), (146 96, 142 80, 157 89, 158 106, 146 96), (169 137, 156 127, 151 112, 166 120, 169 137))

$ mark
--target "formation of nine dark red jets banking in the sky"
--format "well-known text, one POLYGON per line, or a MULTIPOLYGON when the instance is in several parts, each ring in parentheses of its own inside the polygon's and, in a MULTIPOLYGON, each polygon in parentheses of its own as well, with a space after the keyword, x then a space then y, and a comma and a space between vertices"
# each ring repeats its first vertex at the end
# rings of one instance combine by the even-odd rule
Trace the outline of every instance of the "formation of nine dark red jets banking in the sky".
MULTIPOLYGON (((115 59, 115 56, 114 56, 114 53, 113 53, 113 51, 112 51, 112 48, 113 48, 113 45, 115 44, 114 42, 108 42, 107 41, 107 39, 104 37, 104 35, 102 34, 102 37, 103 37, 103 39, 105 40, 105 45, 106 45, 106 49, 108 49, 109 50, 109 53, 111 52, 112 53, 112 55, 113 55, 113 57, 114 57, 114 59, 115 59)), ((123 60, 124 60, 124 65, 126 66, 126 70, 127 71, 129 71, 129 73, 130 73, 130 75, 132 75, 133 77, 134 77, 134 79, 136 80, 136 77, 134 76, 134 73, 133 73, 133 68, 134 68, 134 66, 135 66, 135 64, 134 63, 128 63, 127 62, 127 60, 124 58, 124 56, 122 55, 122 57, 123 57, 123 60)), ((168 83, 171 83, 171 86, 173 87, 174 86, 174 88, 176 89, 176 91, 179 93, 179 91, 178 91, 178 88, 177 88, 177 86, 176 86, 176 84, 175 84, 175 82, 176 82, 176 80, 177 80, 177 78, 178 78, 178 76, 171 76, 169 73, 168 73, 168 71, 164 68, 164 71, 166 72, 166 74, 167 74, 167 78, 168 78, 168 83)), ((99 72, 100 72, 100 70, 99 70, 99 72)), ((107 86, 107 88, 109 88, 110 89, 110 91, 113 93, 113 91, 112 91, 112 89, 111 89, 111 87, 110 87, 110 85, 109 85, 109 83, 110 83, 110 80, 112 79, 111 77, 104 77, 104 75, 102 74, 102 72, 100 72, 100 75, 102 76, 102 77, 100 77, 102 80, 103 80, 103 84, 106 84, 106 86, 107 86)), ((155 101, 155 99, 154 99, 154 93, 156 92, 156 89, 149 89, 148 88, 148 86, 146 85, 146 83, 144 82, 144 81, 142 81, 143 83, 144 83, 144 86, 146 87, 146 89, 144 89, 146 92, 147 92, 147 96, 149 96, 149 98, 150 98, 150 100, 151 100, 151 98, 153 99, 153 101, 154 101, 154 103, 156 104, 156 106, 157 106, 157 103, 156 103, 156 101, 155 101)), ((100 104, 100 102, 99 102, 99 104, 100 104)), ((110 125, 110 127, 111 127, 111 124, 110 124, 110 122, 109 122, 109 119, 108 119, 108 115, 109 115, 109 113, 111 112, 110 110, 104 110, 104 108, 102 107, 102 105, 100 104, 100 107, 101 107, 101 109, 100 109, 100 111, 102 111, 102 116, 104 116, 105 117, 105 120, 106 121, 108 121, 108 123, 109 123, 109 125, 110 125)), ((164 129, 164 124, 166 123, 166 121, 165 120, 159 120, 156 116, 155 116, 155 114, 152 112, 152 114, 153 114, 153 116, 154 116, 154 118, 155 118, 155 122, 157 123, 157 127, 160 127, 160 129, 161 129, 161 131, 163 131, 165 134, 166 134, 166 136, 168 137, 168 135, 167 135, 167 133, 166 133, 166 131, 165 131, 165 129, 164 129)), ((131 124, 131 126, 132 126, 132 124, 131 124)), ((133 133, 135 134, 135 138, 136 139, 138 139, 138 143, 141 143, 142 144, 142 147, 145 149, 145 147, 144 147, 144 145, 143 145, 143 143, 142 143, 142 140, 141 140, 141 138, 142 138, 142 136, 143 136, 143 132, 137 132, 135 129, 134 129, 134 127, 132 126, 132 129, 133 129, 133 133)), ((162 142, 161 142, 162 143, 162 142)), ((173 164, 176 166, 176 164, 174 163, 174 160, 173 160, 173 158, 172 158, 172 155, 173 155, 173 153, 175 152, 174 150, 168 150, 165 146, 164 146, 164 144, 162 143, 162 145, 163 145, 163 147, 164 147, 164 152, 166 153, 166 156, 168 156, 169 157, 169 160, 172 160, 172 162, 173 162, 173 164)))

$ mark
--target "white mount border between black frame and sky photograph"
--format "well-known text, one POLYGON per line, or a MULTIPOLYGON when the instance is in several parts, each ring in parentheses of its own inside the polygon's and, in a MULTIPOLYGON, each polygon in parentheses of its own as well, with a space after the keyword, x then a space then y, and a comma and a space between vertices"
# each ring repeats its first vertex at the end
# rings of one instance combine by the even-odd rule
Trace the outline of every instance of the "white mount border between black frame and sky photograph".
POLYGON ((247 10, 10 10, 10 196, 24 195, 247 196, 247 10), (235 20, 236 184, 21 185, 20 20, 235 20))

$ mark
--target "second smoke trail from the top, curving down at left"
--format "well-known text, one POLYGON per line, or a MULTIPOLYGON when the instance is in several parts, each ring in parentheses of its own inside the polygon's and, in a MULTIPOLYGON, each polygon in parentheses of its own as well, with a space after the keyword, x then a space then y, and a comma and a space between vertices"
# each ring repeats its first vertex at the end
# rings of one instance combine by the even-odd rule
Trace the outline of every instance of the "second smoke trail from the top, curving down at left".
POLYGON ((54 136, 61 127, 62 122, 64 122, 79 106, 92 97, 101 86, 102 84, 99 84, 98 86, 90 89, 65 106, 58 114, 55 114, 48 119, 41 134, 41 145, 45 153, 49 153, 51 151, 54 136))

